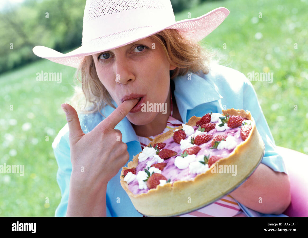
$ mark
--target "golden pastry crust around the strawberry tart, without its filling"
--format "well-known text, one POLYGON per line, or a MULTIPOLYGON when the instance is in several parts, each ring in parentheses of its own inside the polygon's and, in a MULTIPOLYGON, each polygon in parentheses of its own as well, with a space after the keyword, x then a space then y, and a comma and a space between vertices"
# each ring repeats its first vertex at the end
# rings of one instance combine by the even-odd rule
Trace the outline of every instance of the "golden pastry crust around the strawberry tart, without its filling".
MULTIPOLYGON (((253 173, 261 162, 265 145, 257 131, 253 117, 249 111, 241 109, 222 110, 222 114, 230 116, 242 116, 252 121, 252 129, 245 141, 237 145, 227 158, 221 158, 215 162, 205 173, 188 181, 177 180, 173 183, 166 183, 164 186, 148 190, 146 193, 133 194, 128 189, 128 184, 122 176, 123 171, 129 168, 136 168, 139 164, 138 156, 128 163, 128 167, 123 167, 120 175, 120 183, 127 192, 136 210, 145 216, 176 216, 213 203, 217 199, 229 194, 239 187, 253 173), (212 167, 217 163, 220 165, 236 165, 237 175, 232 173, 212 173, 212 167)), ((195 126, 201 117, 191 117, 186 125, 195 126)), ((149 145, 164 142, 173 136, 175 129, 182 129, 183 126, 171 129, 154 138, 149 145)), ((149 146, 148 145, 148 146, 149 146)), ((168 179, 168 178, 167 178, 168 179)))

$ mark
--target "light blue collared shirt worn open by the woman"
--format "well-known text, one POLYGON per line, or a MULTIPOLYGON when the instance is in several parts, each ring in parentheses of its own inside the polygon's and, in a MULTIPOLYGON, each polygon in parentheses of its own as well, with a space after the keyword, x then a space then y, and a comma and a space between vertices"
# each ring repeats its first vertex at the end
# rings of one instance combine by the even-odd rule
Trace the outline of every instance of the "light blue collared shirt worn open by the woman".
MULTIPOLYGON (((257 130, 265 143, 265 155, 261 163, 274 171, 287 173, 282 156, 276 152, 274 138, 257 100, 256 92, 244 74, 222 65, 212 65, 209 74, 201 72, 200 75, 190 73, 185 76, 178 76, 174 79, 174 83, 174 96, 184 123, 187 123, 192 116, 202 117, 209 112, 221 113, 222 109, 235 108, 250 111, 256 122, 257 130)), ((113 105, 117 107, 114 101, 113 105)), ((112 107, 107 105, 101 112, 107 117, 113 110, 112 107)), ((103 120, 102 115, 98 112, 92 114, 80 113, 78 116, 84 133, 90 132, 103 120)), ((137 135, 127 117, 120 121, 115 129, 121 131, 122 141, 127 144, 130 155, 128 162, 130 162, 134 155, 141 151, 137 135)), ((59 166, 57 182, 62 195, 55 216, 65 216, 67 211, 72 171, 69 145, 69 129, 66 124, 52 143, 59 166)), ((128 195, 121 187, 120 174, 121 170, 107 184, 107 216, 142 216, 136 211, 128 195)), ((247 216, 286 216, 283 214, 262 214, 245 207, 239 202, 237 203, 247 216)))

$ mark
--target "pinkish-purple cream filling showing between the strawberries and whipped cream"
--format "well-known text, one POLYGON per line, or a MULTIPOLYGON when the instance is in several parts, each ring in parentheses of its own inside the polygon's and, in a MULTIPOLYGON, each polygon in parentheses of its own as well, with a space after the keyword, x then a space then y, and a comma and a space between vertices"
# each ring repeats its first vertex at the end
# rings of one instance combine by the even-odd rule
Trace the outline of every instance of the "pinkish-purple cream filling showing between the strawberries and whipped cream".
MULTIPOLYGON (((197 126, 193 126, 194 133, 197 131, 197 126)), ((237 145, 239 145, 241 142, 243 142, 241 138, 241 128, 236 127, 232 129, 228 129, 225 131, 217 131, 216 129, 210 130, 207 134, 213 135, 215 137, 216 135, 221 135, 221 134, 226 134, 228 136, 233 136, 235 138, 235 141, 237 142, 237 145)), ((187 139, 187 137, 186 137, 187 139)), ((229 157, 229 155, 232 153, 232 150, 228 149, 223 149, 223 150, 218 150, 218 149, 210 149, 211 147, 211 142, 212 140, 209 140, 208 142, 199 145, 201 150, 196 154, 198 155, 216 155, 221 158, 226 158, 229 157)), ((170 179, 171 183, 173 183, 176 180, 191 180, 197 176, 197 174, 191 173, 189 171, 189 168, 186 169, 179 169, 174 165, 174 160, 177 156, 180 156, 180 153, 183 153, 183 150, 180 149, 180 144, 177 144, 176 142, 173 141, 173 138, 170 137, 169 139, 165 140, 164 143, 166 143, 166 146, 164 149, 169 149, 169 150, 174 150, 178 154, 176 156, 170 157, 168 159, 164 160, 164 163, 167 163, 166 167, 164 167, 163 171, 161 172, 162 175, 166 177, 166 179, 170 179)), ((136 175, 140 170, 144 171, 144 168, 146 167, 146 162, 152 160, 153 157, 146 159, 143 162, 140 162, 138 166, 136 167, 136 175)), ((133 194, 140 194, 140 193, 146 193, 148 192, 148 189, 139 189, 139 184, 137 179, 132 181, 128 185, 128 189, 133 193, 133 194)))

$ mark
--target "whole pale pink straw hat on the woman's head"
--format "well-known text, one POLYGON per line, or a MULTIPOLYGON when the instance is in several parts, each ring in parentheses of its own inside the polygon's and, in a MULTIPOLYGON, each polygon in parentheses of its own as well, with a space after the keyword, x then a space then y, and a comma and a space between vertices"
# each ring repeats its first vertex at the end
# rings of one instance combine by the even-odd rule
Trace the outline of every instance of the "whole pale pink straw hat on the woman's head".
POLYGON ((229 15, 224 7, 197 18, 176 22, 170 0, 87 0, 83 14, 82 46, 63 54, 35 46, 35 55, 77 68, 84 56, 115 49, 147 38, 164 29, 198 42, 229 15))

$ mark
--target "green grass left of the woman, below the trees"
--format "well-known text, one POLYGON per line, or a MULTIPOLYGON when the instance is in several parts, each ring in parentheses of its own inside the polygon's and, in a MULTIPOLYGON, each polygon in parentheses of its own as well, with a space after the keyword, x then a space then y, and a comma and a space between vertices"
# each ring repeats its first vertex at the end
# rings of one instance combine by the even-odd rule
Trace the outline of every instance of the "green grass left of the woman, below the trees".
POLYGON ((74 72, 74 68, 39 60, 1 75, 0 164, 25 165, 25 174, 0 174, 0 216, 54 216, 61 193, 51 143, 66 123, 60 105, 73 93, 74 72), (41 70, 62 72, 62 83, 36 81, 41 70), (25 123, 30 123, 26 124, 31 125, 29 130, 22 130, 25 123), (46 198, 49 207, 45 207, 46 198))

